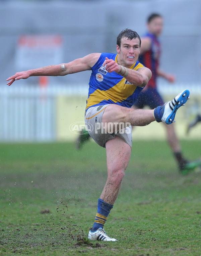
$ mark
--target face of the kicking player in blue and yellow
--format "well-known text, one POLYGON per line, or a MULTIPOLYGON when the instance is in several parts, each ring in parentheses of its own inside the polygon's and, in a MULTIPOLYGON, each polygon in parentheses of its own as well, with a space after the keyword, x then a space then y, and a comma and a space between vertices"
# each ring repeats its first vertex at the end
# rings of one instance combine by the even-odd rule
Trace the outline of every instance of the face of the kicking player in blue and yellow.
POLYGON ((121 39, 121 47, 117 45, 117 62, 126 68, 130 68, 137 60, 140 53, 140 40, 133 38, 121 39))

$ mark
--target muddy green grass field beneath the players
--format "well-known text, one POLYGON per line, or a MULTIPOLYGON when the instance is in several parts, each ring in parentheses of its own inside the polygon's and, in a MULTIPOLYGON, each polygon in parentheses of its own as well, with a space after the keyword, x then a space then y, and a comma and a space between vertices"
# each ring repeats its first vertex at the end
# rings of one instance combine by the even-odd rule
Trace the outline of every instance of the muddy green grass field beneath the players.
MULTIPOLYGON (((196 159, 201 141, 182 141, 196 159)), ((89 228, 106 182, 105 149, 89 142, 0 144, 0 255, 201 255, 201 171, 182 176, 164 141, 133 141, 105 230, 89 228)))

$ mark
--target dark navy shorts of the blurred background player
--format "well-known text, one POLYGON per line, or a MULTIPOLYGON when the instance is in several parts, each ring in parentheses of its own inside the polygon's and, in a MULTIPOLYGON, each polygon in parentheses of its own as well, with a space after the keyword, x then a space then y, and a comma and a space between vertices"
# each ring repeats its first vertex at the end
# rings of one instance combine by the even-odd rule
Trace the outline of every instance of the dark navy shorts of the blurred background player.
POLYGON ((137 109, 143 109, 145 106, 149 106, 150 109, 155 109, 157 106, 163 105, 163 99, 156 89, 147 88, 142 90, 134 105, 137 109))

